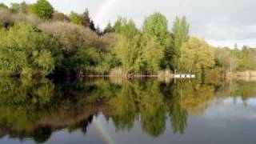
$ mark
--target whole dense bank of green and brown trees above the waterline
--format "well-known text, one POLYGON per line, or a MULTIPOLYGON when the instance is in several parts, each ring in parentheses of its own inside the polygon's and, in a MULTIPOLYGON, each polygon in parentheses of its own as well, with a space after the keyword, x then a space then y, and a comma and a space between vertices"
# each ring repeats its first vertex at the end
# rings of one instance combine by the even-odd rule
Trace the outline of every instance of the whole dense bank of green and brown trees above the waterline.
POLYGON ((46 0, 34 4, 0 4, 0 74, 27 78, 50 74, 158 74, 160 70, 203 74, 255 70, 256 50, 214 48, 190 38, 186 18, 154 13, 142 29, 133 20, 118 18, 105 30, 94 26, 89 10, 62 14, 46 0))

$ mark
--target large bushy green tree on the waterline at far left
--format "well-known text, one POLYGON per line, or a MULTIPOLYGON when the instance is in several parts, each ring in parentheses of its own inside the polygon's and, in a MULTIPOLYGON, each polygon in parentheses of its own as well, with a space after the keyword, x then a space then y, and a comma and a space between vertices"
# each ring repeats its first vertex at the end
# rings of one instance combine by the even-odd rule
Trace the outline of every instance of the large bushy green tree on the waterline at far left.
POLYGON ((33 26, 18 25, 0 31, 0 74, 44 77, 54 70, 56 44, 33 26))

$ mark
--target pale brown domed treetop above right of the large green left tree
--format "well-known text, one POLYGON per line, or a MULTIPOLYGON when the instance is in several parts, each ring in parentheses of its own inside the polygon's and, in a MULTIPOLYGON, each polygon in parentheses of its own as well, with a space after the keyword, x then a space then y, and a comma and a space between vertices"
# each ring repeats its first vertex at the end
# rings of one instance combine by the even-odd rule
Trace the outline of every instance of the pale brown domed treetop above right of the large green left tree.
POLYGON ((98 42, 98 35, 90 29, 66 22, 46 22, 38 28, 58 39, 65 54, 75 53, 98 42))

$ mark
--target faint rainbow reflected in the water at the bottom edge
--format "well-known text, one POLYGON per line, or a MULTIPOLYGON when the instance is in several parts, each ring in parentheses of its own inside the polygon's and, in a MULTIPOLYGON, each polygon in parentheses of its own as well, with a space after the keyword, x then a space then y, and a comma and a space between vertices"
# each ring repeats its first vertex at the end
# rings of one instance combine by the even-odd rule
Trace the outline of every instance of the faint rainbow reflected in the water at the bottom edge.
POLYGON ((93 126, 98 131, 98 133, 101 134, 104 142, 106 142, 107 144, 115 144, 114 139, 107 132, 105 126, 103 126, 102 122, 99 121, 97 118, 94 119, 93 126))

